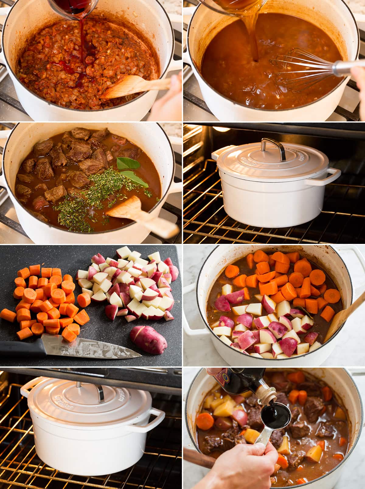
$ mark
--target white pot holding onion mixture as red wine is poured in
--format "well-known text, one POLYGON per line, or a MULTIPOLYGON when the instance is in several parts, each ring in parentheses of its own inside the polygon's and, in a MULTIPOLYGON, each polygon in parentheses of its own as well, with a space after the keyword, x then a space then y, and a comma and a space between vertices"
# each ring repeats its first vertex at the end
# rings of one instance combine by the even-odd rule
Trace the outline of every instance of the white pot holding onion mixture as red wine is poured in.
MULTIPOLYGON (((111 19, 122 18, 135 25, 153 44, 160 61, 160 78, 168 71, 181 69, 182 62, 174 61, 174 31, 171 21, 158 0, 99 0, 93 15, 105 15, 111 19)), ((151 109, 158 91, 150 90, 120 107, 98 111, 67 109, 47 102, 34 94, 16 77, 16 66, 25 44, 46 25, 61 19, 49 6, 47 0, 18 0, 10 8, 0 9, 6 15, 2 29, 3 63, 14 83, 20 103, 36 121, 139 121, 151 109)), ((176 17, 176 16, 175 16, 176 17)), ((181 25, 181 24, 180 24, 181 25)))

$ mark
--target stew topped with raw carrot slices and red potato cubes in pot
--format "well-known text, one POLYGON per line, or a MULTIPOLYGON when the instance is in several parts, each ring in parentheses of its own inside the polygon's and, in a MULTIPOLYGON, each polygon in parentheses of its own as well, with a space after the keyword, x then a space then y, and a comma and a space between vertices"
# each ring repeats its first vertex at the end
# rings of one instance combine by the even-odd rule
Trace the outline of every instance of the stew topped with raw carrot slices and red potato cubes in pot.
POLYGON ((209 292, 209 326, 233 348, 288 358, 321 346, 341 293, 299 253, 257 250, 222 270, 209 292))

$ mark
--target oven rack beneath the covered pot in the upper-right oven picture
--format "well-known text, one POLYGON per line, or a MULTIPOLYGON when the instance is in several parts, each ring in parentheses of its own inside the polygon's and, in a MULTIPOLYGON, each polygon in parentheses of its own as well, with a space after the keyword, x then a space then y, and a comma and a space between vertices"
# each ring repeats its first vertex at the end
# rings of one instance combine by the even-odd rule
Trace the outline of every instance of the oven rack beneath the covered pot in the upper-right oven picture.
POLYGON ((268 229, 237 222, 226 214, 217 163, 203 161, 197 158, 184 168, 184 244, 365 243, 365 179, 346 174, 345 183, 327 185, 323 210, 311 222, 268 229))

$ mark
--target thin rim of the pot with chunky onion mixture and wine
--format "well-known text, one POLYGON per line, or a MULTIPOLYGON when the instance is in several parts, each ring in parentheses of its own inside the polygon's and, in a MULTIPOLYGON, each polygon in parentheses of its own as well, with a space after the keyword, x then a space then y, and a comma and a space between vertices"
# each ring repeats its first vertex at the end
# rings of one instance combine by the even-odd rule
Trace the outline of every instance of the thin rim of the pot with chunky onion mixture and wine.
MULTIPOLYGON (((172 26, 172 23, 171 23, 171 20, 166 12, 166 10, 164 9, 164 7, 162 6, 162 4, 160 3, 159 0, 154 0, 156 3, 158 3, 160 5, 160 8, 162 9, 163 13, 165 14, 167 20, 168 20, 168 23, 169 23, 169 26, 170 26, 170 30, 171 30, 171 36, 172 36, 172 46, 171 46, 171 53, 170 53, 170 58, 166 64, 166 67, 165 69, 163 70, 163 72, 160 74, 159 76, 159 79, 163 78, 163 76, 167 73, 167 70, 168 70, 168 67, 170 66, 170 63, 171 63, 171 60, 173 59, 173 55, 174 55, 174 50, 175 50, 175 36, 174 36, 174 29, 173 29, 173 26, 172 26)), ((8 15, 6 16, 6 19, 8 19, 11 15, 11 12, 13 10, 14 7, 16 7, 17 5, 17 1, 14 2, 14 4, 12 5, 12 7, 10 8, 9 10, 9 13, 8 15)), ((121 107, 126 107, 128 104, 131 104, 132 102, 134 102, 135 100, 138 100, 140 99, 141 97, 143 97, 144 95, 147 95, 147 91, 141 93, 140 95, 138 95, 136 98, 132 99, 132 100, 129 100, 128 102, 125 102, 124 104, 121 104, 121 105, 117 105, 115 107, 109 107, 109 108, 105 108, 105 109, 97 109, 97 110, 93 110, 93 111, 86 111, 86 110, 83 110, 83 109, 69 109, 67 107, 61 107, 60 105, 58 104, 55 104, 54 102, 48 102, 46 99, 40 97, 39 95, 37 95, 36 93, 32 92, 31 90, 29 90, 24 84, 23 82, 21 82, 19 80, 19 78, 17 77, 17 75, 14 73, 13 71, 13 68, 10 66, 10 63, 8 62, 8 59, 6 57, 6 52, 5 52, 5 49, 4 49, 4 37, 5 37, 5 31, 6 31, 6 22, 4 22, 4 28, 2 29, 2 34, 1 34, 1 46, 2 46, 2 53, 4 55, 4 59, 5 59, 5 62, 6 62, 6 68, 10 70, 11 74, 14 76, 14 78, 22 85, 22 87, 24 89, 27 90, 27 92, 30 94, 30 95, 33 95, 34 97, 37 97, 39 100, 41 100, 42 102, 45 102, 47 105, 51 106, 51 107, 57 107, 58 109, 61 109, 63 111, 73 111, 73 112, 76 112, 76 113, 83 113, 83 114, 90 114, 90 113, 98 113, 98 112, 105 112, 105 111, 111 111, 113 109, 120 109, 121 107)))

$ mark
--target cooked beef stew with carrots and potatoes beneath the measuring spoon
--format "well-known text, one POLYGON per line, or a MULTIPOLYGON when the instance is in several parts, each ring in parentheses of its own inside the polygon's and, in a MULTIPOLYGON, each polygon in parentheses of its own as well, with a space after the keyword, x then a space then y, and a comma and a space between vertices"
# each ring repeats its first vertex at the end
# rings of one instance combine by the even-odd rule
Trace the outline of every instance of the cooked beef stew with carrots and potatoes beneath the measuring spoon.
MULTIPOLYGON (((265 380, 275 387, 277 401, 292 412, 289 426, 271 436, 279 454, 273 487, 303 484, 336 467, 349 443, 342 401, 323 381, 298 369, 290 373, 267 371, 265 380)), ((254 443, 263 429, 260 410, 251 392, 230 396, 217 384, 205 396, 196 420, 200 450, 217 458, 238 443, 254 443)))

